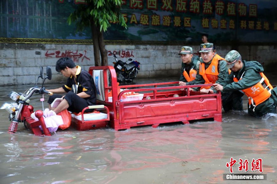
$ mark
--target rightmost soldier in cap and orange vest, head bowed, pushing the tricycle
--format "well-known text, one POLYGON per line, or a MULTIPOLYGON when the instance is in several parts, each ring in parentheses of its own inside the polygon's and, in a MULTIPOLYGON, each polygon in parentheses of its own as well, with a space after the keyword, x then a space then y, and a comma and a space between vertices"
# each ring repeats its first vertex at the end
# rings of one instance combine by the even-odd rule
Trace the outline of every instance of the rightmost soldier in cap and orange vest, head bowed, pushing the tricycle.
POLYGON ((242 90, 248 96, 248 113, 252 116, 276 113, 277 88, 273 88, 263 74, 263 66, 257 61, 242 61, 235 50, 227 53, 225 59, 231 73, 224 85, 214 84, 214 89, 222 92, 242 90))

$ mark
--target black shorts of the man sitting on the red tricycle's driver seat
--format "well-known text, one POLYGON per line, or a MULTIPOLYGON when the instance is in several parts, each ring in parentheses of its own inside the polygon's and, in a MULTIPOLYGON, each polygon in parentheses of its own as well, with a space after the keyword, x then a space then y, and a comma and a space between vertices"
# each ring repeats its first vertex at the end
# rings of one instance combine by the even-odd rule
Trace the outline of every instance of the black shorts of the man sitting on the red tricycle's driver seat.
MULTIPOLYGON (((62 98, 62 96, 61 95, 50 96, 47 103, 51 104, 56 98, 62 98)), ((79 112, 82 112, 84 108, 89 106, 89 104, 87 104, 85 99, 81 98, 80 96, 76 95, 74 92, 71 92, 71 91, 66 94, 64 99, 66 99, 66 101, 69 104, 69 108, 67 108, 67 110, 70 112, 79 113, 79 112)), ((89 109, 89 110, 86 110, 85 112, 92 112, 92 111, 93 109, 89 109)))

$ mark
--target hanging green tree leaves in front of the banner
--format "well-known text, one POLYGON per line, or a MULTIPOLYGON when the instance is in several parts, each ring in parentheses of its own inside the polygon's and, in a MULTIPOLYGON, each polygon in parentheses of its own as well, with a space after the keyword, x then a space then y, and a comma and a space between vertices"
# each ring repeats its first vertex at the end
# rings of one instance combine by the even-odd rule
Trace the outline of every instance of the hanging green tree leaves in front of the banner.
POLYGON ((127 25, 121 14, 122 0, 86 0, 86 4, 79 4, 77 10, 67 19, 68 24, 76 21, 77 30, 82 31, 93 21, 104 32, 110 27, 110 22, 118 22, 124 28, 127 25))

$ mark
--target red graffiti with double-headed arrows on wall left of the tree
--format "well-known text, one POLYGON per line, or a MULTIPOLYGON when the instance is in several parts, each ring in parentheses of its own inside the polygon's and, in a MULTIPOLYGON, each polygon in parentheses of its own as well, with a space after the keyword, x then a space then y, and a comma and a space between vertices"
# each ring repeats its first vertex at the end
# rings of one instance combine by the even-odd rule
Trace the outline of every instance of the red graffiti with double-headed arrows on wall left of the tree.
POLYGON ((78 50, 76 52, 66 50, 65 52, 61 52, 59 50, 54 51, 54 53, 48 53, 49 50, 46 51, 45 56, 46 57, 55 57, 60 58, 60 57, 70 57, 73 59, 74 62, 78 62, 80 58, 82 58, 81 61, 83 61, 85 58, 90 61, 90 58, 86 57, 86 50, 84 50, 84 54, 78 53, 78 50))

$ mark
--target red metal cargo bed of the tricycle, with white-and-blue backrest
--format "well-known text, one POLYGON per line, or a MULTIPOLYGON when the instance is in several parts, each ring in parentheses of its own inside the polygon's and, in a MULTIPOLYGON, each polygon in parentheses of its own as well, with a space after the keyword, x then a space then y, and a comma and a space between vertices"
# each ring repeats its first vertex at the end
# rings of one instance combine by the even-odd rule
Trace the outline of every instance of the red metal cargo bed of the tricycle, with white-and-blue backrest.
POLYGON ((109 108, 109 123, 115 130, 142 125, 157 127, 160 123, 170 122, 189 123, 195 119, 222 119, 220 92, 200 94, 189 91, 192 87, 211 84, 179 86, 177 81, 118 86, 115 71, 111 66, 90 67, 89 72, 94 76, 97 103, 109 108), (125 98, 134 100, 122 100, 125 98))

